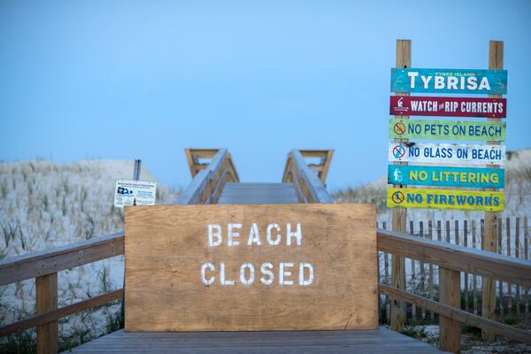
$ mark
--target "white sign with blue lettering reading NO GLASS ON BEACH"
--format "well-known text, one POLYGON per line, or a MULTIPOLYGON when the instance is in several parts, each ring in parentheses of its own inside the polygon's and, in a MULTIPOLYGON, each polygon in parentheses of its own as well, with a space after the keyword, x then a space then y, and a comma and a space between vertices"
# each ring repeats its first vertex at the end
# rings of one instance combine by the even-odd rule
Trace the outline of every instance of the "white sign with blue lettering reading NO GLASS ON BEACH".
POLYGON ((504 165, 504 145, 389 142, 389 161, 468 165, 504 165))

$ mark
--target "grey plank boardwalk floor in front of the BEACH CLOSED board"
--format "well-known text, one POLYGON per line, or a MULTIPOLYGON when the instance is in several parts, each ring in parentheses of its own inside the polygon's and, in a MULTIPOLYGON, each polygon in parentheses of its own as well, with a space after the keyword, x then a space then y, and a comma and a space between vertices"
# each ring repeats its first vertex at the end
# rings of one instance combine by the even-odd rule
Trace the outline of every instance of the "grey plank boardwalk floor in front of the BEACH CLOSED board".
POLYGON ((356 331, 184 332, 104 335, 73 353, 440 353, 387 328, 356 331))

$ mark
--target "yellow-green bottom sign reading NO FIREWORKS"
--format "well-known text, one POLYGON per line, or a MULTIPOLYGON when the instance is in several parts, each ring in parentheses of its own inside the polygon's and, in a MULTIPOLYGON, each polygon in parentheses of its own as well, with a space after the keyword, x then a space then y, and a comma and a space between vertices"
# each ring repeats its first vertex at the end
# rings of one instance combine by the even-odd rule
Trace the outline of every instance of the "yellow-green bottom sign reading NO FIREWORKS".
POLYGON ((389 188, 387 206, 389 208, 404 207, 503 212, 504 193, 450 189, 389 188))

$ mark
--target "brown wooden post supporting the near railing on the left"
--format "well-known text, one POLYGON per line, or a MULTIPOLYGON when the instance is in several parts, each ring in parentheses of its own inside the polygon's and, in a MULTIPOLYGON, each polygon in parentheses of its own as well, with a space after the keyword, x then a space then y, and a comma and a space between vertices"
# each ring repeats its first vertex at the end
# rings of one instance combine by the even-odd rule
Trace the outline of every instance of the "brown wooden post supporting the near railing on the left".
MULTIPOLYGON (((58 273, 43 275, 35 279, 37 313, 58 308, 58 273)), ((37 327, 37 354, 58 352, 58 321, 37 327)))

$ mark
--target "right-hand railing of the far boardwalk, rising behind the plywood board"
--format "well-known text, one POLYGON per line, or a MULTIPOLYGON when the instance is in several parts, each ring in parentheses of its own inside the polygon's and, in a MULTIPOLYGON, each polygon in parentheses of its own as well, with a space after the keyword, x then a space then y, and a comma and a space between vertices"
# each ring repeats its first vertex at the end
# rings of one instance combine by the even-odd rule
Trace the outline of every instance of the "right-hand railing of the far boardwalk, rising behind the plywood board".
MULTIPOLYGON (((313 157, 312 150, 304 151, 308 157, 313 157)), ((318 152, 323 151, 319 150, 318 152)), ((332 153, 330 152, 327 157, 332 158, 332 153)), ((299 203, 334 203, 334 199, 327 192, 324 181, 319 179, 319 172, 326 179, 329 162, 330 160, 327 159, 327 162, 324 162, 318 171, 306 164, 301 150, 289 152, 282 181, 293 183, 299 203)))

